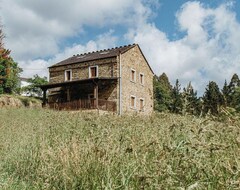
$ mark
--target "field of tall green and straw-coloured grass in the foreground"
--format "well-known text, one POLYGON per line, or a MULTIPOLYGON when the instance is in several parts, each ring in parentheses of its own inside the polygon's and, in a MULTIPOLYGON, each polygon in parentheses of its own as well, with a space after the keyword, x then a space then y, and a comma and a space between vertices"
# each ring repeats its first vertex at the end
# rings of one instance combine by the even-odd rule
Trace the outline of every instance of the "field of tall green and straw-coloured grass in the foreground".
POLYGON ((240 120, 0 109, 0 189, 240 189, 240 120))

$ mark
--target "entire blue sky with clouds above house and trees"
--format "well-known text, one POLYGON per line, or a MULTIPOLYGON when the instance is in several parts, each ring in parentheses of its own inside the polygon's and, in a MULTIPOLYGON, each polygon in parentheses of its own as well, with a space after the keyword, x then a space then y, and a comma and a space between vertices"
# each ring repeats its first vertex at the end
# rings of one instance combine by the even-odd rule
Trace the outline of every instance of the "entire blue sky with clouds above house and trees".
POLYGON ((154 73, 199 95, 240 75, 239 0, 0 0, 5 47, 22 77, 74 54, 139 44, 154 73))

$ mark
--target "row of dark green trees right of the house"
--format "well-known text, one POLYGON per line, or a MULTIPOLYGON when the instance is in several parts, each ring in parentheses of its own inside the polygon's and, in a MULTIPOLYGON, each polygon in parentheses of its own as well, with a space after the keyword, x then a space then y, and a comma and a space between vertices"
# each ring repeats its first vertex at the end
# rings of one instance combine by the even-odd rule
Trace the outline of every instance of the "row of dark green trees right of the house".
POLYGON ((154 109, 169 111, 176 114, 219 115, 222 112, 240 112, 240 80, 234 74, 231 81, 225 83, 222 89, 214 81, 206 86, 202 97, 197 95, 191 82, 181 88, 177 79, 174 86, 169 82, 165 73, 154 76, 154 109))

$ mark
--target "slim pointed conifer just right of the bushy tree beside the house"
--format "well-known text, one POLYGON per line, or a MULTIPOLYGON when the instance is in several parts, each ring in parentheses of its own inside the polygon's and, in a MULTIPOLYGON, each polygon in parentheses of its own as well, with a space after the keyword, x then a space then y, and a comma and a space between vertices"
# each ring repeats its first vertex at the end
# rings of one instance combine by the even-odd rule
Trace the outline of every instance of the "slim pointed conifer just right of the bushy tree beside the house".
POLYGON ((181 85, 179 84, 179 80, 176 80, 175 86, 172 89, 172 103, 171 103, 171 112, 173 113, 181 113, 182 111, 182 94, 180 92, 181 85))

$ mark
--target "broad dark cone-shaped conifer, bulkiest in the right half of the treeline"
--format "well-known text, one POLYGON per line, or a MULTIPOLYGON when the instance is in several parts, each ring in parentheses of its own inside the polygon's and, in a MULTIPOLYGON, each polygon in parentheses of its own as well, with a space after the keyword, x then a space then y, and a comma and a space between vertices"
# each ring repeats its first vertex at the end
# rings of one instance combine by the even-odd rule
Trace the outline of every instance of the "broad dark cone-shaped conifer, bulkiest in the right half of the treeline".
POLYGON ((213 115, 219 113, 220 106, 223 105, 223 97, 217 83, 211 81, 207 85, 203 95, 204 113, 211 112, 213 115))

